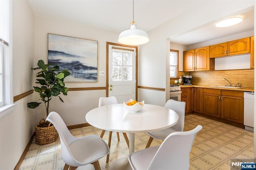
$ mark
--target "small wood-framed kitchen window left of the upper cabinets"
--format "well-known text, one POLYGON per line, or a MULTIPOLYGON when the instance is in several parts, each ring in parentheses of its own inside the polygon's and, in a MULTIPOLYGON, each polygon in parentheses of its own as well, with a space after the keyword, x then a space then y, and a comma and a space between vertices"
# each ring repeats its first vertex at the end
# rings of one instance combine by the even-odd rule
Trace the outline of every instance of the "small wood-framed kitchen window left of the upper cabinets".
POLYGON ((179 63, 179 51, 175 49, 170 50, 170 77, 178 77, 178 63, 179 63))

